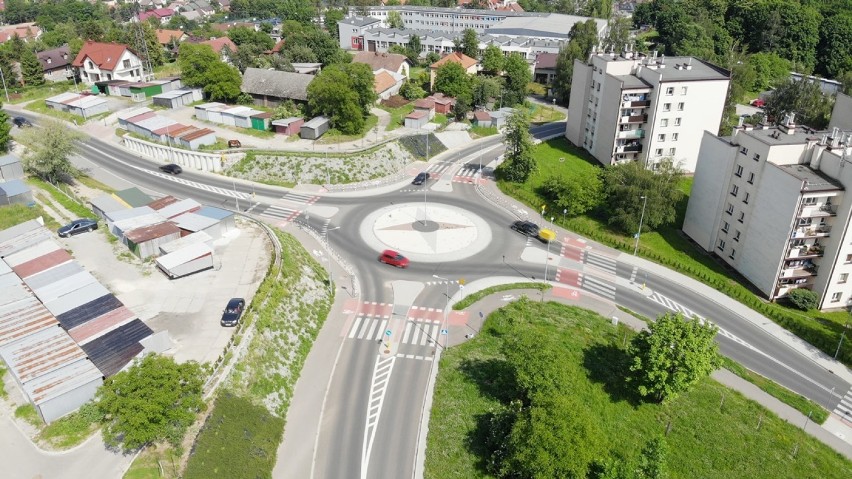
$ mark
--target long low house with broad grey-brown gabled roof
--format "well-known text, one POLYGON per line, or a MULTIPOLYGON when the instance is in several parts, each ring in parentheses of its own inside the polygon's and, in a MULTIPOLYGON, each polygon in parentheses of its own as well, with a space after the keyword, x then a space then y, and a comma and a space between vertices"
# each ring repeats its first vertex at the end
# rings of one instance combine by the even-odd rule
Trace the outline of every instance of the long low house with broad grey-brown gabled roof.
POLYGON ((246 68, 241 90, 254 98, 255 105, 277 106, 284 100, 305 102, 313 75, 246 68))

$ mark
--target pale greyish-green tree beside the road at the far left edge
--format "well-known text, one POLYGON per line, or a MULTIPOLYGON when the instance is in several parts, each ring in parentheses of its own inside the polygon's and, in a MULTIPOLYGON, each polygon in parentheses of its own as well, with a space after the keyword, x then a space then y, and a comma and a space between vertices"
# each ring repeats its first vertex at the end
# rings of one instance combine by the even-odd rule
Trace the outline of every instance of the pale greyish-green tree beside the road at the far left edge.
POLYGON ((56 120, 44 120, 41 126, 18 135, 27 147, 21 162, 27 171, 49 183, 65 181, 76 171, 70 157, 77 152, 80 135, 56 120))

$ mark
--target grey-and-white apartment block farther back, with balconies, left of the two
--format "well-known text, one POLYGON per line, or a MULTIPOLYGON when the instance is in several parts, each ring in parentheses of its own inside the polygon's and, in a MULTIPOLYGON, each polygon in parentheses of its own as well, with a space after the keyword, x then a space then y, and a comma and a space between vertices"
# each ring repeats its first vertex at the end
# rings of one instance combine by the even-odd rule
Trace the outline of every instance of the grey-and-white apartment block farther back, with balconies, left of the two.
POLYGON ((672 158, 692 172, 704 131, 719 130, 729 83, 729 71, 692 57, 576 60, 565 136, 604 165, 672 158))

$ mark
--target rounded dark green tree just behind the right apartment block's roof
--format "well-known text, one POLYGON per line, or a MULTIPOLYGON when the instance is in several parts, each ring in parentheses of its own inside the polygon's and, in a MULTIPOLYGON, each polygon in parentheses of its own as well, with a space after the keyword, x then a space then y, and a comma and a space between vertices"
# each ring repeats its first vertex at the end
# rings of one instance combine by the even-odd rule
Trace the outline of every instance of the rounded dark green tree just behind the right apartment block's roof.
POLYGON ((764 111, 776 123, 783 121, 785 114, 793 113, 796 123, 821 130, 828 126, 833 104, 817 82, 789 79, 769 95, 764 111))

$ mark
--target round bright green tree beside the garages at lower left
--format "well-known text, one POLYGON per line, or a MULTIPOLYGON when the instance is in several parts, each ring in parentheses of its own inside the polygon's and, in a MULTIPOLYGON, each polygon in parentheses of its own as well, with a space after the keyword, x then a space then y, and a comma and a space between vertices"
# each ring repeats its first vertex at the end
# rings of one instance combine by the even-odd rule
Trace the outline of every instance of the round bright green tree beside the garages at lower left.
POLYGON ((125 450, 162 440, 179 444, 204 409, 203 385, 204 373, 195 361, 177 364, 167 356, 145 356, 98 389, 104 441, 125 450))

